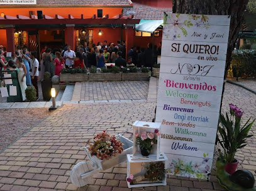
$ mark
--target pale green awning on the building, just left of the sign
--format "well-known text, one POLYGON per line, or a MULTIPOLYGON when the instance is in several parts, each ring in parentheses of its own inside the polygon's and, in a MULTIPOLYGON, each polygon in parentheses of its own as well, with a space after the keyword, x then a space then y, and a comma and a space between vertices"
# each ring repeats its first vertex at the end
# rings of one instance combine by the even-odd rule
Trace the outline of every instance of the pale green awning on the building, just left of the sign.
POLYGON ((153 33, 155 29, 159 28, 160 25, 164 24, 162 20, 140 20, 139 24, 135 24, 136 31, 143 31, 147 33, 153 33))

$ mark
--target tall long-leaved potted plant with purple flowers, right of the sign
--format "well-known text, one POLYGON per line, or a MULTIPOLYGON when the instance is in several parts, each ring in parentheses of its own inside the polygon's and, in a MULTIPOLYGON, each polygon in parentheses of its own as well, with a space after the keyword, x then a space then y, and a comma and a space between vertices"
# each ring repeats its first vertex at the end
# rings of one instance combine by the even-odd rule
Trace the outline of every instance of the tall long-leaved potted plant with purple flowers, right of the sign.
POLYGON ((236 105, 230 104, 230 117, 226 112, 226 118, 223 114, 220 114, 220 126, 218 126, 218 132, 220 133, 221 140, 217 137, 218 143, 223 148, 224 157, 226 160, 226 172, 232 174, 237 170, 238 160, 235 159, 235 153, 239 148, 243 148, 247 145, 247 138, 253 135, 248 135, 250 128, 253 125, 249 123, 248 119, 245 125, 241 125, 240 121, 243 115, 243 111, 236 105))

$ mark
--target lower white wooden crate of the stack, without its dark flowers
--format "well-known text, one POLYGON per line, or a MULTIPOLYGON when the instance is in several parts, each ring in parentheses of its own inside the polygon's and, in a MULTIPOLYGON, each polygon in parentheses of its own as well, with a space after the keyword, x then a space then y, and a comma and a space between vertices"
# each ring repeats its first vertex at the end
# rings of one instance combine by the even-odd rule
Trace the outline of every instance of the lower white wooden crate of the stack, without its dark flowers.
MULTIPOLYGON (((127 178, 132 174, 134 178, 145 175, 147 172, 147 166, 150 162, 157 163, 157 162, 163 162, 165 164, 165 169, 167 168, 167 164, 165 163, 167 161, 167 157, 164 153, 160 154, 159 160, 143 160, 139 158, 133 158, 132 155, 127 155, 127 178)), ((127 182, 129 188, 134 187, 150 187, 150 186, 160 186, 160 185, 166 185, 166 173, 164 180, 160 182, 150 182, 149 180, 142 180, 141 182, 131 184, 130 182, 127 182)))

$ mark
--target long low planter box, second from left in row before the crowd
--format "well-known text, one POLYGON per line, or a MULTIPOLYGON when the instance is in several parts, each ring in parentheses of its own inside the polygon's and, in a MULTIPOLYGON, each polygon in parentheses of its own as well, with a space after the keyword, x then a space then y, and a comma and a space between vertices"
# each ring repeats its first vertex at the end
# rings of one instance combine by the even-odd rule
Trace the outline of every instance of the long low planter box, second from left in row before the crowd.
POLYGON ((121 81, 121 73, 89 73, 89 81, 121 81))

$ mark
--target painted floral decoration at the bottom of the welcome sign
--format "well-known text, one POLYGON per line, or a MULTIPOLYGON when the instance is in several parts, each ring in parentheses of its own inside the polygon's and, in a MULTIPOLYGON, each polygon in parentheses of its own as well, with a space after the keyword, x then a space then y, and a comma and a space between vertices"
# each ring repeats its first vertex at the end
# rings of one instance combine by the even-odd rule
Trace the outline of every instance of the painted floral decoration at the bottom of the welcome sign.
POLYGON ((167 174, 179 175, 181 177, 191 177, 199 179, 208 179, 211 172, 211 163, 208 158, 208 153, 203 154, 203 161, 201 163, 186 162, 178 158, 178 160, 172 160, 167 168, 167 174))

